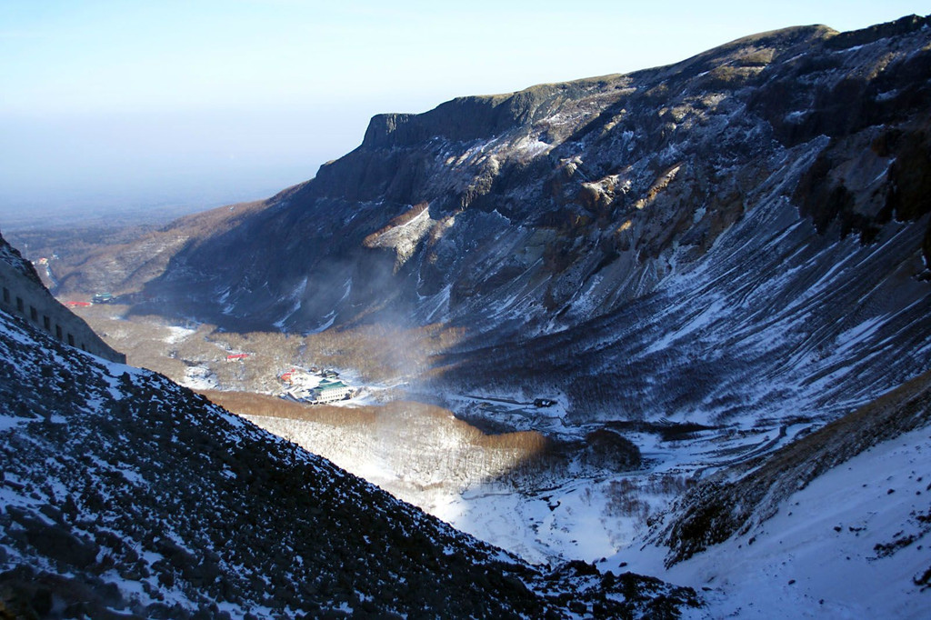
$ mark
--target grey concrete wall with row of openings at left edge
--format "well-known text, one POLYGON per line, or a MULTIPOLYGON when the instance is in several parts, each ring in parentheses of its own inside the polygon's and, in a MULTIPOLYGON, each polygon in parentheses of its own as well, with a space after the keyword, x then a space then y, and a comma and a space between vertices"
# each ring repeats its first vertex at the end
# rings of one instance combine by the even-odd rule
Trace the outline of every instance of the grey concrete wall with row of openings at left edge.
MULTIPOLYGON (((51 293, 29 276, 32 265, 20 258, 0 236, 0 309, 24 318, 35 328, 53 338, 110 361, 126 363, 126 356, 116 352, 91 330, 81 317, 58 302, 51 293), (19 262, 22 263, 19 263, 19 262), (28 266, 27 266, 28 265, 28 266)), ((36 278, 37 279, 37 278, 36 278)))

